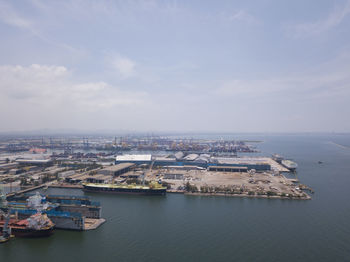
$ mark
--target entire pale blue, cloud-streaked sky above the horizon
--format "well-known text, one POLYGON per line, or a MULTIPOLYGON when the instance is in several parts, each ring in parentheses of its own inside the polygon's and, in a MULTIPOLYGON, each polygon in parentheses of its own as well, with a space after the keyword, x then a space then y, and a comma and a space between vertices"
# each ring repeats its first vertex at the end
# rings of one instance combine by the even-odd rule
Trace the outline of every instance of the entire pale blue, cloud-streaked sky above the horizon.
POLYGON ((350 132, 350 0, 0 0, 0 132, 350 132))

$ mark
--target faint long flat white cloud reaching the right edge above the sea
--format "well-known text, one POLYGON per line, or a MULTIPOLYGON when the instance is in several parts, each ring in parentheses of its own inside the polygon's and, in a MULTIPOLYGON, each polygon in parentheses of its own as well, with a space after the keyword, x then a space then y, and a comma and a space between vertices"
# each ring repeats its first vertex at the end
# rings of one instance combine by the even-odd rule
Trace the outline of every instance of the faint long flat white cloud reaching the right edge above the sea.
POLYGON ((255 101, 262 98, 279 99, 329 99, 350 96, 350 77, 337 74, 295 74, 289 77, 223 82, 211 93, 222 98, 237 98, 255 101))

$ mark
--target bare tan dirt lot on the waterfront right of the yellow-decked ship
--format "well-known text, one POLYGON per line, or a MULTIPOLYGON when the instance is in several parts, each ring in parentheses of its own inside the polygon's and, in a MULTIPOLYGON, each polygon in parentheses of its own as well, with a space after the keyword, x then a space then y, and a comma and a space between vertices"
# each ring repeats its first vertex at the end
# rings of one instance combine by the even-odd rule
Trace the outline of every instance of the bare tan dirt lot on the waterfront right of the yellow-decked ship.
MULTIPOLYGON (((171 177, 171 176, 170 176, 171 177)), ((147 180, 159 180, 170 184, 172 190, 184 190, 187 182, 201 192, 228 192, 249 195, 274 195, 306 197, 298 185, 283 175, 272 172, 233 173, 212 172, 207 170, 153 170, 146 174, 147 180), (181 174, 177 179, 169 179, 169 174, 181 174), (168 179, 164 178, 164 175, 168 179)))

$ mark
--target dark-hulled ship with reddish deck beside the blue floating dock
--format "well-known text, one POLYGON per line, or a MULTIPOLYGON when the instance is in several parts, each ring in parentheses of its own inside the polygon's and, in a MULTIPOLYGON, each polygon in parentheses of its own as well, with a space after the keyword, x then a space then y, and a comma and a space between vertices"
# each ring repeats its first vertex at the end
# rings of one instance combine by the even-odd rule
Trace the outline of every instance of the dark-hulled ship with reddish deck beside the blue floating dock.
MULTIPOLYGON (((0 230, 5 227, 6 221, 0 220, 0 230)), ((41 213, 34 214, 27 219, 10 219, 8 227, 16 237, 47 237, 53 233, 54 223, 41 213)))

